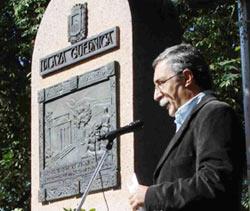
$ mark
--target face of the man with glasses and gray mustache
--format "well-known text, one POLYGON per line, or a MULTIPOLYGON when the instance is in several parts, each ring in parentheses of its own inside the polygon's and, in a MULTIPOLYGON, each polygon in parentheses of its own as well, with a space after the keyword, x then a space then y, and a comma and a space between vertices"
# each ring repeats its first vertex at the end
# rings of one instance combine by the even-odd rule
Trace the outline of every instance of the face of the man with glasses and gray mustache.
POLYGON ((160 62, 154 72, 154 100, 168 110, 174 117, 177 109, 183 104, 184 80, 171 70, 170 65, 160 62))

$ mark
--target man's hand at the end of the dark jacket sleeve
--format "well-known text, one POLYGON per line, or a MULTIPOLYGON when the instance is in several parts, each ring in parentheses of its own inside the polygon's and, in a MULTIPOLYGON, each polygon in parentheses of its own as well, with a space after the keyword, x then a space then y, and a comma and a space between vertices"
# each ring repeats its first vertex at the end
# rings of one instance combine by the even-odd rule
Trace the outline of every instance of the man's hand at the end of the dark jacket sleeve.
POLYGON ((144 206, 147 189, 148 186, 139 185, 136 192, 130 195, 129 201, 133 211, 136 211, 139 207, 144 206))

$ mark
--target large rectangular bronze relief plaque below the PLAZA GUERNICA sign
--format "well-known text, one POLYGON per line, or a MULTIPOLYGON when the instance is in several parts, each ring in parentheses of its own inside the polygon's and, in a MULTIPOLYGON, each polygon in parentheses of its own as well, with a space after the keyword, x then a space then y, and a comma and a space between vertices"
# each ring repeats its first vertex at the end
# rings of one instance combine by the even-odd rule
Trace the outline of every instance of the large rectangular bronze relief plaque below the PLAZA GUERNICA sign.
MULTIPOLYGON (((40 201, 84 193, 106 142, 117 127, 117 68, 112 62, 40 90, 40 201)), ((118 187, 118 147, 113 149, 91 191, 118 187)))

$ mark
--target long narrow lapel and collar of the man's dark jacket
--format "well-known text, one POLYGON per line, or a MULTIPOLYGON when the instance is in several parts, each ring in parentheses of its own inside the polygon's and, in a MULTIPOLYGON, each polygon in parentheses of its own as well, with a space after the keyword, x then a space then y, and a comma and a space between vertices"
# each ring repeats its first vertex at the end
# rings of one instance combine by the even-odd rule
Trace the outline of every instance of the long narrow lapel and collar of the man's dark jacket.
POLYGON ((177 133, 175 133, 175 135, 173 136, 173 138, 171 139, 170 143, 168 144, 165 152, 163 153, 160 161, 158 162, 158 165, 156 166, 155 172, 154 172, 154 178, 157 177, 157 174, 159 172, 159 170, 161 169, 161 166, 163 165, 163 163, 165 162, 165 160, 168 158, 170 152, 172 151, 172 149, 179 143, 179 141, 181 140, 181 136, 184 134, 184 132, 186 131, 191 119, 195 116, 195 114, 204 106, 206 105, 208 102, 216 100, 216 97, 214 95, 211 94, 207 94, 203 97, 203 99, 201 100, 201 102, 193 109, 193 111, 191 112, 191 114, 187 117, 187 119, 184 121, 183 125, 180 127, 180 129, 177 131, 177 133))

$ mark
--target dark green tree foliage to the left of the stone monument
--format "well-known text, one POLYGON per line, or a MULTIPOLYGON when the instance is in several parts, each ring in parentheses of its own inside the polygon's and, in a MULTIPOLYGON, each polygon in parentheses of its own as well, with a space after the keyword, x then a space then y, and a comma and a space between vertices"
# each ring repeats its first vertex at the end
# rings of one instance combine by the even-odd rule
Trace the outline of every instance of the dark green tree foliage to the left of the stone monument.
POLYGON ((0 210, 30 207, 30 61, 48 2, 0 2, 0 210))

